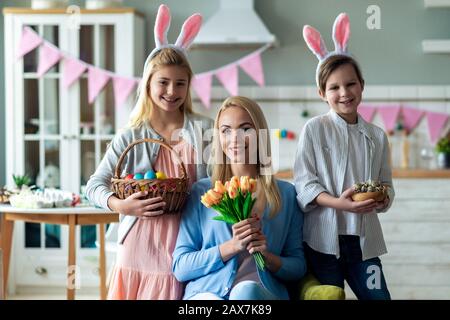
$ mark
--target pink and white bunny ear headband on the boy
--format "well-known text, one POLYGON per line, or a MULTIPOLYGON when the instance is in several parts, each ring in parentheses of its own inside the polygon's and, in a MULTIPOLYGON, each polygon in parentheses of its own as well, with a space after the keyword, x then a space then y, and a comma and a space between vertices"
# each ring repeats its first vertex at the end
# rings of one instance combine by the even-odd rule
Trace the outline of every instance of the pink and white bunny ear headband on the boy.
POLYGON ((325 42, 320 32, 309 25, 303 27, 303 38, 309 49, 319 59, 316 69, 316 83, 319 86, 319 69, 322 63, 331 56, 350 56, 347 51, 347 44, 350 38, 350 21, 346 13, 341 13, 336 17, 333 25, 334 51, 328 52, 325 42))

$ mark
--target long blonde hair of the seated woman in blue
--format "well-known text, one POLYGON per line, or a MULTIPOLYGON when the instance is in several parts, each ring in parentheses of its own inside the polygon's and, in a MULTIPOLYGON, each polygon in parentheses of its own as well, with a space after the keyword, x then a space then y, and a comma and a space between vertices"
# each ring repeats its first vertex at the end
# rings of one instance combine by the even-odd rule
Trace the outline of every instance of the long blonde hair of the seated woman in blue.
POLYGON ((253 121, 253 124, 256 129, 256 136, 258 141, 258 148, 256 149, 258 152, 257 156, 257 179, 258 184, 261 186, 261 194, 259 196, 263 196, 264 200, 267 201, 270 208, 270 217, 273 217, 280 211, 281 209, 281 196, 280 191, 278 189, 278 185, 275 181, 275 178, 272 174, 272 164, 262 164, 260 161, 260 151, 263 150, 269 159, 271 159, 271 149, 270 149, 270 135, 269 129, 267 126, 266 119, 264 114, 259 107, 259 105, 246 97, 230 97, 227 98, 219 109, 217 113, 216 119, 214 121, 214 137, 211 148, 211 157, 210 157, 210 167, 212 168, 211 172, 211 181, 213 185, 215 181, 220 180, 222 182, 230 180, 232 177, 231 165, 226 161, 226 155, 222 150, 222 146, 219 141, 219 119, 222 112, 229 107, 240 107, 247 111, 250 118, 253 121), (261 174, 264 171, 270 170, 270 174, 261 174))

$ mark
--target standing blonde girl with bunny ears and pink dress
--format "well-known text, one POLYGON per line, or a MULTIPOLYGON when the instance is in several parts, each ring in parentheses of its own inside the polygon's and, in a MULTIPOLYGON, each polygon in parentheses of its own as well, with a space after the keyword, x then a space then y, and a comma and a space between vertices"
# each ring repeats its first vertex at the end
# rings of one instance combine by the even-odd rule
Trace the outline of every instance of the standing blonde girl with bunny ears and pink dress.
MULTIPOLYGON (((206 164, 203 164, 206 162, 201 159, 202 138, 198 132, 212 128, 212 121, 192 112, 189 95, 192 70, 185 55, 199 30, 201 17, 193 15, 185 22, 175 45, 167 44, 165 39, 169 20, 168 8, 161 6, 155 25, 156 48, 144 66, 131 125, 113 139, 87 184, 89 200, 121 214, 109 299, 180 299, 183 293, 182 284, 171 272, 180 215, 162 215, 162 199, 141 199, 146 192, 120 200, 110 190, 120 155, 130 143, 142 138, 171 145, 186 164, 190 182, 206 176, 206 164), (181 139, 178 134, 172 135, 178 129, 182 129, 181 139)), ((153 169, 169 177, 180 176, 170 151, 159 144, 136 145, 124 163, 122 175, 153 169)))

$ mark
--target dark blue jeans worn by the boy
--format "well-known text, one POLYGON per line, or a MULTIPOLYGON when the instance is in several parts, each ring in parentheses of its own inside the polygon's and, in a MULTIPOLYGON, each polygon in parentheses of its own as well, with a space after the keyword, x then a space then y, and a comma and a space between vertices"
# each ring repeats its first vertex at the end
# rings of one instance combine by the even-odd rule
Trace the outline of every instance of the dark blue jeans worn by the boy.
POLYGON ((391 299, 380 259, 362 260, 358 236, 339 236, 339 259, 315 251, 306 243, 304 247, 308 268, 321 284, 344 288, 344 280, 347 280, 360 300, 391 299))

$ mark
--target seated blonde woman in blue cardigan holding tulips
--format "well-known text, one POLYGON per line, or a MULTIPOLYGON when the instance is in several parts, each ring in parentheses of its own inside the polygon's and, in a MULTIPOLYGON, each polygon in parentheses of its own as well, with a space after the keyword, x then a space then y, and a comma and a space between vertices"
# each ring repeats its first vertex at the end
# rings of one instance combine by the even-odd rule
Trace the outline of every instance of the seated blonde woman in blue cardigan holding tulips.
POLYGON ((214 123, 212 176, 197 182, 183 211, 173 253, 173 272, 187 282, 184 299, 288 299, 282 281, 298 280, 306 270, 302 213, 294 186, 271 172, 269 133, 260 107, 244 97, 225 100, 214 123), (252 217, 230 227, 200 203, 216 181, 232 176, 258 180, 252 217), (257 269, 261 252, 266 271, 257 269))

